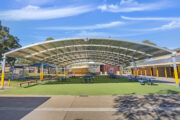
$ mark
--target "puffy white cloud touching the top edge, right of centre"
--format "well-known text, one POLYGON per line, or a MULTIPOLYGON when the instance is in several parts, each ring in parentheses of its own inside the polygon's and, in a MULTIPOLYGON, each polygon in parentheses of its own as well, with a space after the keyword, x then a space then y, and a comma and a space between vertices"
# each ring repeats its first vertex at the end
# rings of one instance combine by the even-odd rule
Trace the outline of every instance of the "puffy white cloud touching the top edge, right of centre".
POLYGON ((135 12, 152 11, 169 7, 171 4, 167 1, 155 3, 138 3, 136 0, 121 0, 120 4, 104 4, 98 6, 98 9, 108 12, 135 12))

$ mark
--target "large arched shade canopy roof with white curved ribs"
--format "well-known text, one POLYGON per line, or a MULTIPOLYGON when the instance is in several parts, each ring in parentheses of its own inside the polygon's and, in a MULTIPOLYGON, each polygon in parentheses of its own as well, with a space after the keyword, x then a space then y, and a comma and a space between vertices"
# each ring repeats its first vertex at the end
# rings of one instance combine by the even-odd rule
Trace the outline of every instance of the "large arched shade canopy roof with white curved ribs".
POLYGON ((123 65, 132 61, 171 54, 172 51, 112 38, 69 38, 45 41, 5 53, 6 56, 67 66, 79 62, 123 65))

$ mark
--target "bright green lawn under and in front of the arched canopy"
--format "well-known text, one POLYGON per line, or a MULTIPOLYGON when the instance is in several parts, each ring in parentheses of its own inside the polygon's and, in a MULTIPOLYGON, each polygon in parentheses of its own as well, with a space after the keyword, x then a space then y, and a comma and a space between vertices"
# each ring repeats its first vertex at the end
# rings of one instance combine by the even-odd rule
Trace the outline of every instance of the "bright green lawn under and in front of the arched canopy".
POLYGON ((96 77, 93 83, 82 83, 83 78, 71 78, 66 82, 51 80, 33 84, 29 87, 12 88, 0 94, 28 95, 128 95, 128 94, 179 94, 180 88, 171 85, 157 84, 152 86, 130 82, 126 78, 112 79, 96 77))

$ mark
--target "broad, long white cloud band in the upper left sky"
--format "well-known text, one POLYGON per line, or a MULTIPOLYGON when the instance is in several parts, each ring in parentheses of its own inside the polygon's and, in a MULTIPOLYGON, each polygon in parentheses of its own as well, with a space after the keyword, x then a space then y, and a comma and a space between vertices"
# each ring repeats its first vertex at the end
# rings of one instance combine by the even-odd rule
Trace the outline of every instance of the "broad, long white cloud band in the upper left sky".
POLYGON ((22 9, 0 11, 3 20, 42 20, 79 15, 92 11, 90 6, 71 6, 64 8, 40 8, 28 5, 22 9))

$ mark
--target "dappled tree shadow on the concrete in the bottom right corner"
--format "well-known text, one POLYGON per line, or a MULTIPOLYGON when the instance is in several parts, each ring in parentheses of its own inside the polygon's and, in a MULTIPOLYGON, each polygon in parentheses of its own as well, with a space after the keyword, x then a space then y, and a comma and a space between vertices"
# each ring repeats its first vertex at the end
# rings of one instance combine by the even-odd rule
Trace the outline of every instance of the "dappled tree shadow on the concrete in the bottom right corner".
POLYGON ((180 111, 171 108, 180 107, 179 92, 165 90, 158 93, 176 95, 118 96, 114 99, 115 105, 113 106, 118 111, 113 115, 118 117, 116 120, 178 120, 180 111))

